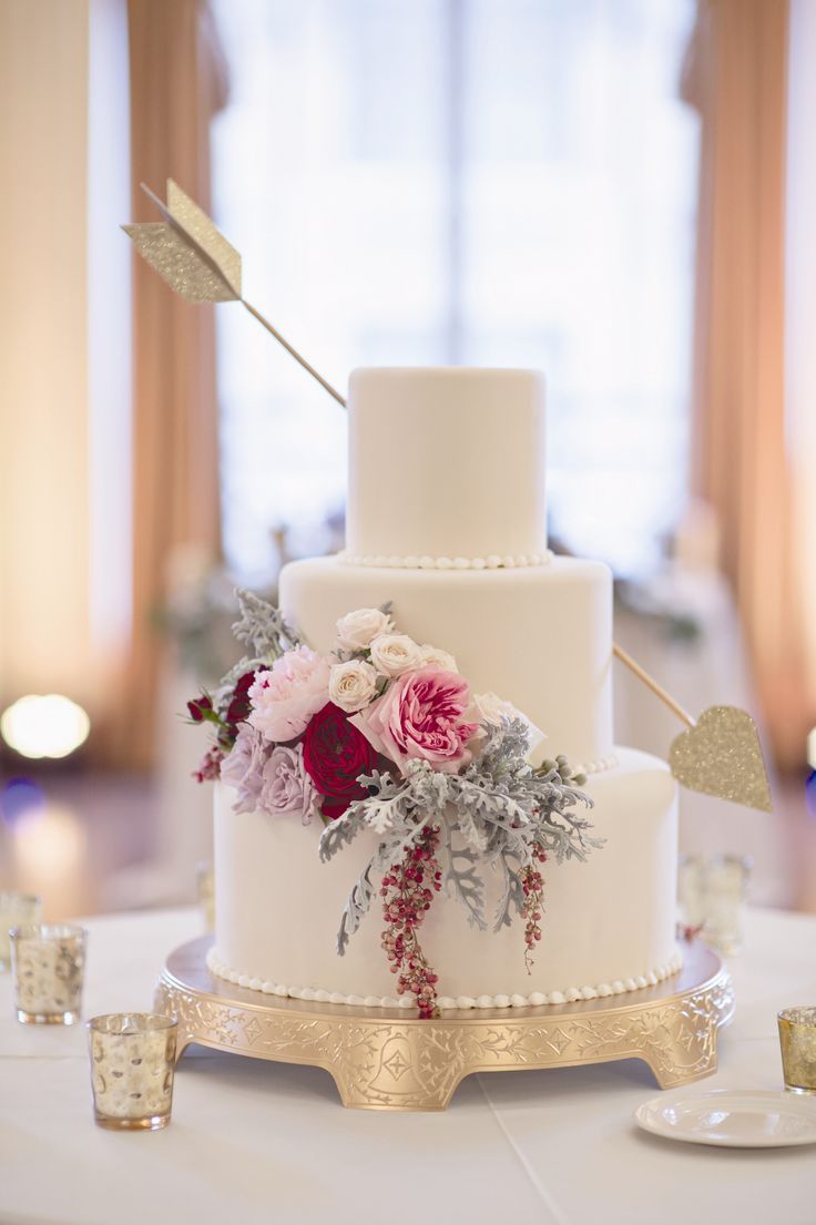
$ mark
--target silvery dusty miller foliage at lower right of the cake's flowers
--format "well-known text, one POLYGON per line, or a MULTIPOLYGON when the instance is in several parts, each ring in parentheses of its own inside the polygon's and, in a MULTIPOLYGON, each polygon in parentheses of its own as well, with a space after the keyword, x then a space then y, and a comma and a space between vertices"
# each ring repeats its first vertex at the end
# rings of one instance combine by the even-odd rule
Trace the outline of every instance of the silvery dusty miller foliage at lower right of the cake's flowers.
POLYGON ((320 840, 321 860, 331 860, 364 829, 380 844, 353 887, 341 918, 337 951, 344 953, 380 887, 383 873, 398 862, 429 822, 440 829, 439 859, 445 888, 468 911, 469 922, 494 931, 521 913, 522 872, 533 850, 550 859, 586 860, 603 839, 592 835, 583 809, 589 796, 564 782, 565 767, 534 771, 526 761, 529 747, 522 719, 484 725, 486 741, 479 757, 461 773, 434 769, 415 761, 402 779, 375 771, 360 778, 369 789, 320 840), (495 914, 485 914, 485 878, 499 872, 501 894, 495 914))

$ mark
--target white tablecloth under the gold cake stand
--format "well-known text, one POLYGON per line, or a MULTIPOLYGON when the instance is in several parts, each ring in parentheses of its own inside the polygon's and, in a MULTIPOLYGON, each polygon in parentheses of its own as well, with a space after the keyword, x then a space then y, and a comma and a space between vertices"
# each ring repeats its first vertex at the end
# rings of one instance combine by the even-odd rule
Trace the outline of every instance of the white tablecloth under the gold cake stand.
MULTIPOLYGON (((93 920, 86 1016, 149 1007, 194 911, 93 920)), ((698 1085, 780 1088, 777 1009, 816 1002, 816 919, 749 915, 736 1018, 698 1085)), ((94 1127, 86 1034, 20 1025, 0 980, 4 1225, 814 1225, 816 1149, 725 1150, 640 1132, 658 1090, 627 1061, 464 1080, 440 1115, 344 1110, 326 1072, 195 1047, 164 1132, 94 1127)), ((816 1111, 816 1102, 814 1104, 816 1111)))

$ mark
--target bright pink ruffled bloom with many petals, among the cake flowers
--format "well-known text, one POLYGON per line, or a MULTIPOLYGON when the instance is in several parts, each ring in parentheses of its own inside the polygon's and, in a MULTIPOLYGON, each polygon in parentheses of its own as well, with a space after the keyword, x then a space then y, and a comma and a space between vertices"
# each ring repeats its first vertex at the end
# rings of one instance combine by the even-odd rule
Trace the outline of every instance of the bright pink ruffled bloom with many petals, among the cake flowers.
POLYGON ((456 673, 420 668, 406 673, 349 723, 401 769, 410 760, 457 771, 470 761, 468 741, 479 730, 463 715, 470 702, 468 682, 456 673))

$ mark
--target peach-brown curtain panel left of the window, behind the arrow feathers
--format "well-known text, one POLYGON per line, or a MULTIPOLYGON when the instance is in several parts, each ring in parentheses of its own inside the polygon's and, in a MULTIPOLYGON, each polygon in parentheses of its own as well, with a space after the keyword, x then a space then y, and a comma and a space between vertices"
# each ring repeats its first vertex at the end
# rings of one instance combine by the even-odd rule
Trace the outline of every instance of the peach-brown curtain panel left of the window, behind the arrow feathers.
MULTIPOLYGON (((165 180, 210 209, 210 123, 225 72, 203 0, 129 0, 132 219, 157 221, 140 190, 165 180)), ((179 545, 219 552, 212 306, 190 306, 134 257, 134 633, 120 764, 151 766, 164 643, 154 614, 179 545)))

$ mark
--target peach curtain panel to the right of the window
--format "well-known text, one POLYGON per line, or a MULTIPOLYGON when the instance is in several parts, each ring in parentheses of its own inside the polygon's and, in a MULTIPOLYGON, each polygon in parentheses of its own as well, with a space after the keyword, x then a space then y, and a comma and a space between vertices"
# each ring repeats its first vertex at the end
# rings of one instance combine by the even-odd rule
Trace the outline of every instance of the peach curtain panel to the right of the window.
POLYGON ((787 0, 701 0, 684 85, 702 118, 692 479, 777 762, 801 768, 816 696, 785 451, 788 21, 787 0))

